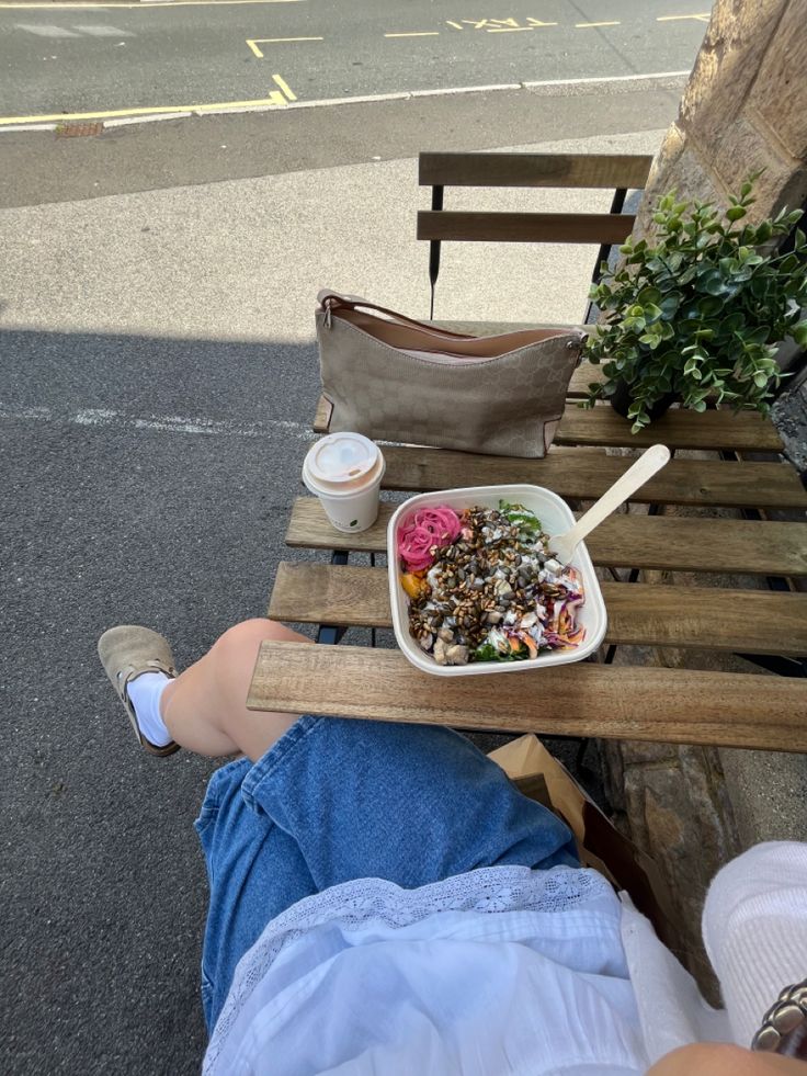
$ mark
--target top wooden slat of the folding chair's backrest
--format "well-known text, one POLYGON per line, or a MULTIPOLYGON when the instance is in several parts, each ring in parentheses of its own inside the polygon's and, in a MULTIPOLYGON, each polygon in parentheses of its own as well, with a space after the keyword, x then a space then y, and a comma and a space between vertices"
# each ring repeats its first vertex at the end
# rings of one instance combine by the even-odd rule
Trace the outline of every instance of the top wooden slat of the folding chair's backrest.
POLYGON ((652 157, 622 154, 420 155, 421 186, 575 186, 641 190, 652 157))

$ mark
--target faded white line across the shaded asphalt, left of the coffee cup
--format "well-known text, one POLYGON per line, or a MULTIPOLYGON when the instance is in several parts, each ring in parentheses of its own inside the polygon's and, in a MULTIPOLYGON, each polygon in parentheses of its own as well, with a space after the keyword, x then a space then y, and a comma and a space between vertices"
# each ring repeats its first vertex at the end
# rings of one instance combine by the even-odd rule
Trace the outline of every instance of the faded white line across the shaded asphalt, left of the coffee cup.
POLYGON ((299 441, 316 441, 317 434, 303 422, 269 419, 245 426, 229 420, 194 415, 125 415, 107 408, 88 407, 78 411, 56 411, 50 407, 10 407, 0 403, 0 419, 35 422, 59 422, 68 426, 115 427, 129 430, 155 430, 161 433, 191 433, 213 437, 271 438, 277 434, 299 441))

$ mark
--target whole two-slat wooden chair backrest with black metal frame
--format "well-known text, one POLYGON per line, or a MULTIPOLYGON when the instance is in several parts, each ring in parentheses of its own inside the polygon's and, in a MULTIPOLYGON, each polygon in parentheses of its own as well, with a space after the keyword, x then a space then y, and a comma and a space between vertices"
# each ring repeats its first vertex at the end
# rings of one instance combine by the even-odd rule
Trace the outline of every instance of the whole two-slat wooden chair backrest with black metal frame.
POLYGON ((440 245, 461 242, 599 243, 592 280, 611 247, 624 242, 635 217, 622 213, 629 190, 644 190, 652 157, 617 154, 420 155, 419 183, 431 186, 432 207, 418 213, 418 238, 428 239, 431 317, 440 274, 440 245), (610 213, 475 213, 443 208, 446 186, 613 189, 610 213))

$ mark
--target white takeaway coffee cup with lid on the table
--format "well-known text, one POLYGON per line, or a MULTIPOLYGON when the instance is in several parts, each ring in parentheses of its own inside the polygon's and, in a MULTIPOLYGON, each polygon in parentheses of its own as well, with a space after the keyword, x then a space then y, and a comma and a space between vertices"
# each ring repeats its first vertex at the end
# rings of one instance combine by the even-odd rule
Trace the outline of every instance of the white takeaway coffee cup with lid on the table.
POLYGON ((303 482, 338 531, 366 531, 378 518, 378 490, 386 464, 362 433, 329 433, 311 446, 303 482))

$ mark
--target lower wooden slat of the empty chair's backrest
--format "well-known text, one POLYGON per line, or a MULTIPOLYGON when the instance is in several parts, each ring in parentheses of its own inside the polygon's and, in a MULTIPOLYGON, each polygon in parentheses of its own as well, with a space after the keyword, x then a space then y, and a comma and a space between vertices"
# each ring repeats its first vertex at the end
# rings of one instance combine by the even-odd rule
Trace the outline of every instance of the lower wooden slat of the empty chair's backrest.
POLYGON ((418 239, 455 242, 624 242, 629 213, 479 213, 420 209, 418 239))

